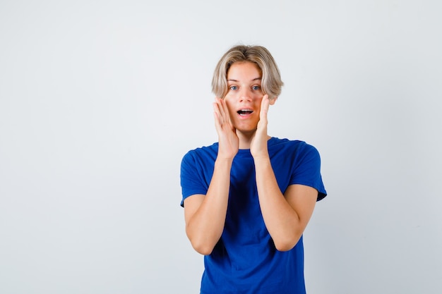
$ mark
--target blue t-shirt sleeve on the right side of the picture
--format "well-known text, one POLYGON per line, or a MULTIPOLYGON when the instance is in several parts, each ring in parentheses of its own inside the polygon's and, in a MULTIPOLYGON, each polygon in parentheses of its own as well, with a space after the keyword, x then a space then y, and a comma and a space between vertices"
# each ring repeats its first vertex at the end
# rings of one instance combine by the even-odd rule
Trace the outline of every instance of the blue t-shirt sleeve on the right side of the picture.
POLYGON ((300 150, 294 165, 290 184, 308 185, 318 190, 318 199, 322 200, 327 192, 325 191, 321 176, 321 157, 318 150, 311 145, 304 145, 300 150))

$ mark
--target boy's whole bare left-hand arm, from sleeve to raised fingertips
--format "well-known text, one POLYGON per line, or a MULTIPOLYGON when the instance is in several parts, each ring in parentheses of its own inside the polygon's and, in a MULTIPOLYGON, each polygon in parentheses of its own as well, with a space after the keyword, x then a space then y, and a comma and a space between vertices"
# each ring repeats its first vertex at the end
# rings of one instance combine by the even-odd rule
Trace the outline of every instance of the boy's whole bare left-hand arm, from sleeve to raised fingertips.
POLYGON ((186 234, 193 248, 209 255, 224 230, 229 199, 230 169, 239 149, 239 140, 230 123, 222 99, 214 103, 215 127, 219 137, 215 169, 207 195, 192 195, 184 200, 186 234))

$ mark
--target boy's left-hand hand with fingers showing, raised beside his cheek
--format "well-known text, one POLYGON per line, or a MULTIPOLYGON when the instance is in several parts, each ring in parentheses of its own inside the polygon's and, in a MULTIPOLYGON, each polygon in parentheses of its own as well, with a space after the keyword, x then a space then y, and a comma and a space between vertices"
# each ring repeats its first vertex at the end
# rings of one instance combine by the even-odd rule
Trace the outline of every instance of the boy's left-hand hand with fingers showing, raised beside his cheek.
POLYGON ((238 153, 237 130, 230 121, 229 110, 223 99, 215 98, 213 103, 215 128, 218 134, 218 158, 233 159, 238 153))

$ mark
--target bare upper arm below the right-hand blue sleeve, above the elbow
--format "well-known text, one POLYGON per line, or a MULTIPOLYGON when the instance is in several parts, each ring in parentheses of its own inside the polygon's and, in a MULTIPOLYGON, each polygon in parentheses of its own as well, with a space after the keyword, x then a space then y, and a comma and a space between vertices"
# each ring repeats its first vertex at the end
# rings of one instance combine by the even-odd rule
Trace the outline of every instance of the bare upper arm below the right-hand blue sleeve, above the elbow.
POLYGON ((318 190, 307 185, 289 185, 284 193, 284 197, 297 213, 299 228, 301 229, 301 233, 304 232, 313 214, 313 209, 318 199, 318 190))

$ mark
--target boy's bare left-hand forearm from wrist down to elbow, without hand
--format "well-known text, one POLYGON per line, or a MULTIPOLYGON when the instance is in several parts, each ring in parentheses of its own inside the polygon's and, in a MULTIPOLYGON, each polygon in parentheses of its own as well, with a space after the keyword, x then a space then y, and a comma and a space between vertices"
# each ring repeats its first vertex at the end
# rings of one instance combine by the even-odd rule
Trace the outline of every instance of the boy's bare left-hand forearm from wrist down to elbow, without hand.
POLYGON ((232 160, 217 159, 207 194, 186 223, 193 248, 203 255, 212 252, 225 226, 232 160))

